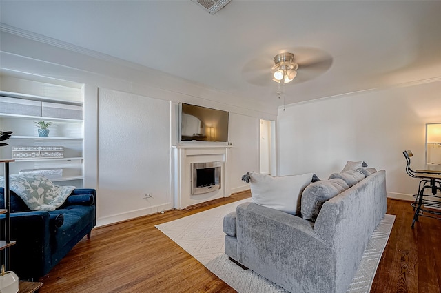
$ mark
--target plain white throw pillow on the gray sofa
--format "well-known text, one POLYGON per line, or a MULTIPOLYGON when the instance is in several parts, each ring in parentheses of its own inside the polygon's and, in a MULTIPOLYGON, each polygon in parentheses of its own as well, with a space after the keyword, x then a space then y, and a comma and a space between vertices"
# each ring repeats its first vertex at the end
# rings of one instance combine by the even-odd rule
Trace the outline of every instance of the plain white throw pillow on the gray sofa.
POLYGON ((313 173, 270 176, 249 173, 252 202, 289 214, 300 212, 301 195, 311 183, 313 173))

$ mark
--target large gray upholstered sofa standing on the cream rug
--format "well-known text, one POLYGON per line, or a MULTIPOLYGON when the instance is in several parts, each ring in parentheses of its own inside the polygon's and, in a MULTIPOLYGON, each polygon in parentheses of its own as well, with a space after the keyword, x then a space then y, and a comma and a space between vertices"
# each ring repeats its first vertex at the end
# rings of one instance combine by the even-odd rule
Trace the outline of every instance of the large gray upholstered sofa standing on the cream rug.
MULTIPOLYGON (((289 292, 346 292, 387 209, 384 170, 365 175, 322 203, 314 219, 238 205, 224 218, 225 254, 289 292)), ((320 182, 311 185, 327 184, 320 182)))

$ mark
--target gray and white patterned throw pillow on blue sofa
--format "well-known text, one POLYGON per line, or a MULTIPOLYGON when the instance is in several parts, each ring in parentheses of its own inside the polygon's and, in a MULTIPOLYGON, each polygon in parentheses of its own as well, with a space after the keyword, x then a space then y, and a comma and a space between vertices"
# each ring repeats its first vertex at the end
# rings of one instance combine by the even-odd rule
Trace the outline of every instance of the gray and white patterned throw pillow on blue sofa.
MULTIPOLYGON (((0 186, 4 185, 5 179, 1 177, 0 186)), ((30 210, 55 210, 74 189, 74 186, 54 185, 45 176, 38 174, 10 175, 10 190, 17 193, 30 210)))

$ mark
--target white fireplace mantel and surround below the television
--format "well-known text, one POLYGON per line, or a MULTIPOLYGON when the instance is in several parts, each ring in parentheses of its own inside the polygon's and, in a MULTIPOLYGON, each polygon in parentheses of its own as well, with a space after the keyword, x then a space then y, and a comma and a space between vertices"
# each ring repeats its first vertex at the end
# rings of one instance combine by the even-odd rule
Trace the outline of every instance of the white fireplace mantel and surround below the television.
POLYGON ((228 176, 228 159, 231 145, 196 143, 174 145, 172 148, 174 156, 174 174, 172 174, 174 179, 174 208, 181 210, 189 205, 196 205, 231 195, 228 176), (222 162, 220 189, 205 194, 192 194, 191 164, 213 161, 222 162))

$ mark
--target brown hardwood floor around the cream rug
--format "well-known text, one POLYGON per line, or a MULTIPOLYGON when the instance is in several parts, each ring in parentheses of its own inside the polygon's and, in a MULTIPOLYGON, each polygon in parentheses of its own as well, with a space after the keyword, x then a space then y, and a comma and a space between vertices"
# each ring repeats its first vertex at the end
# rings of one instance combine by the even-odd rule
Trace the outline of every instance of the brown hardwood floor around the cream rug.
MULTIPOLYGON (((95 228, 90 241, 80 241, 39 280, 39 292, 236 292, 154 225, 249 196, 233 194, 188 210, 95 228)), ((395 214, 396 221, 371 292, 440 292, 441 221, 420 218, 412 230, 407 201, 388 199, 387 213, 395 214)))

